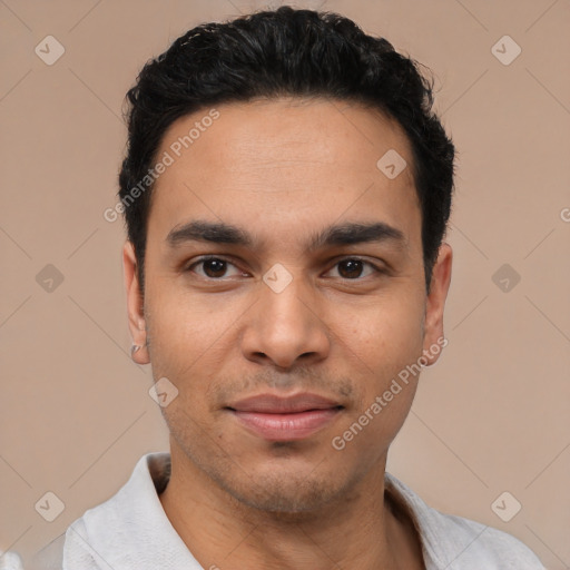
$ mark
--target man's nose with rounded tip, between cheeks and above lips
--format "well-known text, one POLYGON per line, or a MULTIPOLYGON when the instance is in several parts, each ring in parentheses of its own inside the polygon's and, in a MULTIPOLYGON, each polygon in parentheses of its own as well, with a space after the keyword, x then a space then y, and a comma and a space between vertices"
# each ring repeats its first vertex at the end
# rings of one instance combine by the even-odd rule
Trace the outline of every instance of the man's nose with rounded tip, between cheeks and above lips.
POLYGON ((325 315, 301 277, 294 277, 281 292, 262 282, 258 295, 258 301, 244 315, 242 352, 246 358, 291 368, 327 357, 331 334, 325 315))

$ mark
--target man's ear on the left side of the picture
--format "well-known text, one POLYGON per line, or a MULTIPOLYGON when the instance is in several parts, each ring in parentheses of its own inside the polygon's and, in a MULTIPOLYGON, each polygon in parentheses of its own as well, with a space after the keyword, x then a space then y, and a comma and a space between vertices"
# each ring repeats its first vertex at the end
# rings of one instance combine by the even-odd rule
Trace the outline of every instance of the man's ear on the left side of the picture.
POLYGON ((132 342, 141 346, 141 348, 132 353, 132 360, 137 364, 149 364, 150 358, 147 347, 144 299, 138 282, 137 256, 135 255, 135 247, 131 242, 126 242, 122 247, 122 271, 125 275, 125 287, 127 289, 130 335, 132 336, 132 342))

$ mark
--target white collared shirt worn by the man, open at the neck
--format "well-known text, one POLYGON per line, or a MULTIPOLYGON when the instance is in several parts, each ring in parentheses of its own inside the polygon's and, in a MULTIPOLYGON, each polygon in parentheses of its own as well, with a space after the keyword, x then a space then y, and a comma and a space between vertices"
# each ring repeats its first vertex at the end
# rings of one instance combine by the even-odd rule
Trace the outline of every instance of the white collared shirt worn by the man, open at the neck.
MULTIPOLYGON (((202 570, 160 503, 158 495, 169 475, 169 453, 140 458, 129 481, 108 501, 76 520, 65 540, 62 535, 59 544, 51 546, 51 554, 46 551, 40 556, 42 562, 35 568, 202 570)), ((432 509, 387 472, 385 489, 410 512, 422 541, 426 570, 544 570, 537 556, 514 537, 432 509)), ((215 560, 209 568, 216 568, 215 560)))

